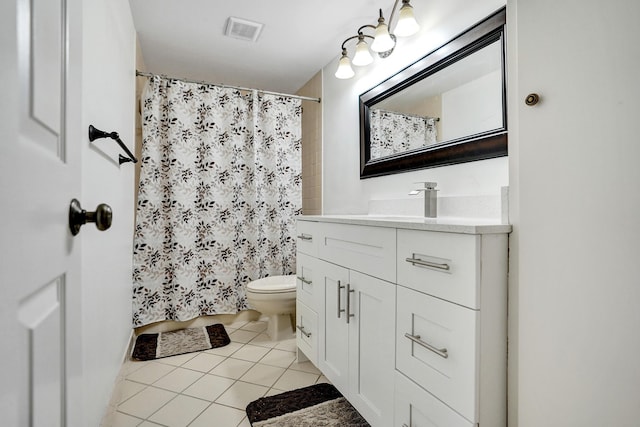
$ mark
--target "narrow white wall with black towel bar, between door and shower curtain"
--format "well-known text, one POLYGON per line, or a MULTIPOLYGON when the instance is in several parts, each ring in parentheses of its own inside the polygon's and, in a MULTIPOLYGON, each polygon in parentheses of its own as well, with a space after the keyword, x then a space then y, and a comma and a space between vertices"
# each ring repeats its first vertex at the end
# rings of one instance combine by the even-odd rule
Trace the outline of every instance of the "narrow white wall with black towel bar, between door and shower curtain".
POLYGON ((97 426, 111 397, 131 332, 133 164, 118 166, 117 144, 90 146, 93 124, 134 147, 135 30, 127 0, 83 2, 82 206, 113 209, 107 231, 82 237, 84 423, 97 426))

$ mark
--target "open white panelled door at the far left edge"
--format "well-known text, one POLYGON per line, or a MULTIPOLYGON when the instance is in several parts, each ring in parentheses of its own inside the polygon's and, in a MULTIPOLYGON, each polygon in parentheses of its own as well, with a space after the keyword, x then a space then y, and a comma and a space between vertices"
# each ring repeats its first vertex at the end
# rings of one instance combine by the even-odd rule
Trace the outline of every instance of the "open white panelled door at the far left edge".
POLYGON ((0 424, 80 425, 78 0, 0 5, 0 424))

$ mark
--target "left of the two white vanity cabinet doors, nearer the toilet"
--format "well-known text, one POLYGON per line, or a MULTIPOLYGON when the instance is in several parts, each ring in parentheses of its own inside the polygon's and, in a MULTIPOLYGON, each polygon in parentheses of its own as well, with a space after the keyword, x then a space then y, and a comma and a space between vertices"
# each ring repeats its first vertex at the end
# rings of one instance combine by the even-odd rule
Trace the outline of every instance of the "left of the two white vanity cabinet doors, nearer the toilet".
POLYGON ((340 392, 347 396, 349 368, 349 329, 345 319, 346 285, 349 270, 318 260, 315 277, 323 300, 319 315, 320 370, 340 392))

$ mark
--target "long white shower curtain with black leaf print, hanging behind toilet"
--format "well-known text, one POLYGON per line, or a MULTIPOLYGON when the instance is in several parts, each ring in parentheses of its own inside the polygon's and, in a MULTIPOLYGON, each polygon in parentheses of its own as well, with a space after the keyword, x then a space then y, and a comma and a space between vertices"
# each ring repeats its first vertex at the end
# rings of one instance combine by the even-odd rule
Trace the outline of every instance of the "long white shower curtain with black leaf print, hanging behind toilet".
POLYGON ((295 272, 300 100, 154 76, 141 102, 134 327, 250 308, 295 272))

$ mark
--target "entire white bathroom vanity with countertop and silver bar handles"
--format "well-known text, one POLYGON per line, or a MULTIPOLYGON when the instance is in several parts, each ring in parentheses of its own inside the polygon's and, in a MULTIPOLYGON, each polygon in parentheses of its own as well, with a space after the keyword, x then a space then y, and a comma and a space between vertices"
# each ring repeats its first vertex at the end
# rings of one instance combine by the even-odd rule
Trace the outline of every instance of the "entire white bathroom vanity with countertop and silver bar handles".
POLYGON ((374 427, 506 426, 511 226, 302 216, 297 344, 374 427))

